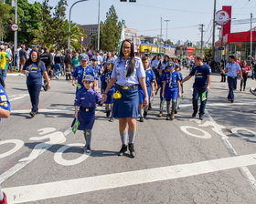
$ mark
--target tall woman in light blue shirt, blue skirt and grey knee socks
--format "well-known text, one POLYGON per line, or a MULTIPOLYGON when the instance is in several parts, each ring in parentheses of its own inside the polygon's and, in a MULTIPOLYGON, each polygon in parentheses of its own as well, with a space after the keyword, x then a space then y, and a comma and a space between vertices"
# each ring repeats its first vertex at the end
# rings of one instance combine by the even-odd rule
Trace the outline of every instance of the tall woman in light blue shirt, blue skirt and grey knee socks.
POLYGON ((119 156, 127 151, 127 140, 130 155, 135 157, 134 138, 136 134, 136 118, 139 115, 139 91, 140 84, 144 90, 144 107, 148 106, 148 94, 145 85, 144 66, 140 58, 134 56, 134 46, 130 40, 124 40, 121 46, 121 54, 115 61, 112 78, 105 89, 102 102, 107 99, 107 94, 116 83, 116 92, 113 101, 113 117, 119 118, 119 131, 123 146, 119 156), (128 133, 127 133, 128 125, 128 133))

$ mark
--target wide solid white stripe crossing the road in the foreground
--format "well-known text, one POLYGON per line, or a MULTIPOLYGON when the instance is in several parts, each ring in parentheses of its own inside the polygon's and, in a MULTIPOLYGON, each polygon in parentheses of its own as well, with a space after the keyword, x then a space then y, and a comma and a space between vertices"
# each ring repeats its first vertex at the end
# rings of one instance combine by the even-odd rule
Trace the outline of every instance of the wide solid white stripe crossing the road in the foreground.
POLYGON ((149 168, 96 177, 61 180, 36 185, 3 189, 9 203, 22 203, 41 199, 87 193, 102 189, 115 189, 169 179, 187 178, 201 174, 256 165, 256 154, 219 158, 197 163, 162 168, 149 168))

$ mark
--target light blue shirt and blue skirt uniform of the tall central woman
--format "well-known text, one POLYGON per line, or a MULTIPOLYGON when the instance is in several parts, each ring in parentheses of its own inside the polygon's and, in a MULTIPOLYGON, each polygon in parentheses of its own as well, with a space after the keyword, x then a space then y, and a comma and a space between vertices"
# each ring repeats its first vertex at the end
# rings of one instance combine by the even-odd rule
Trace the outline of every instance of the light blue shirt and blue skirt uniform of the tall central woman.
POLYGON ((135 57, 135 67, 131 76, 126 77, 130 59, 117 58, 112 71, 116 78, 116 91, 121 98, 113 100, 113 117, 138 117, 139 115, 139 77, 145 77, 144 66, 139 57, 135 57))

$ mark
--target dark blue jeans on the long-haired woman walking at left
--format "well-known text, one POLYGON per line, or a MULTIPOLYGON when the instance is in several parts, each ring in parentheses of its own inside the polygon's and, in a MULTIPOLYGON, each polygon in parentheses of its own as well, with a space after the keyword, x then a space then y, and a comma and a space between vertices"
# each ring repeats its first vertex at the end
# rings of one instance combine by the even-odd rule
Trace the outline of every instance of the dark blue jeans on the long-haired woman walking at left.
POLYGON ((32 112, 37 112, 38 110, 38 104, 39 104, 39 94, 41 91, 41 84, 33 84, 33 85, 28 85, 27 84, 27 90, 29 93, 30 101, 32 104, 32 112))

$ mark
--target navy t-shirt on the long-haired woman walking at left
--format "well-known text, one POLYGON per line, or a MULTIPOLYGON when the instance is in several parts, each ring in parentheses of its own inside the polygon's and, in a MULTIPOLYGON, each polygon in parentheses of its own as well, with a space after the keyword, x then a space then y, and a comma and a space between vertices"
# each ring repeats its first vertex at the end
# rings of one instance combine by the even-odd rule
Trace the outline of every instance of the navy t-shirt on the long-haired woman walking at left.
POLYGON ((41 61, 39 67, 37 67, 37 62, 32 62, 28 65, 26 61, 22 70, 27 70, 27 85, 42 84, 43 72, 47 71, 43 61, 41 61))

